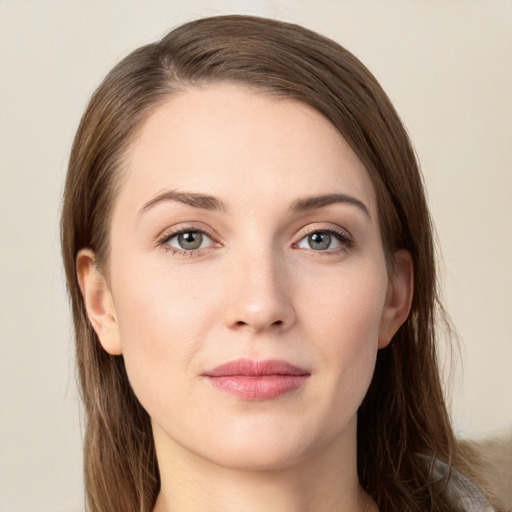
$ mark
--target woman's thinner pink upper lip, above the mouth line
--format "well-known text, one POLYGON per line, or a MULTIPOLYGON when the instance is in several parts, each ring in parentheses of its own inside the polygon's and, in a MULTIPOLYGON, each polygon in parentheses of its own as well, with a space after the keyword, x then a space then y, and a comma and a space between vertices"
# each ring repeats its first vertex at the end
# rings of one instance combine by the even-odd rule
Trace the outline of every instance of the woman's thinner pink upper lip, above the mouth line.
POLYGON ((216 366, 204 372, 207 377, 226 377, 240 375, 244 377, 262 377, 268 375, 310 375, 307 370, 299 368, 281 359, 236 359, 216 366))

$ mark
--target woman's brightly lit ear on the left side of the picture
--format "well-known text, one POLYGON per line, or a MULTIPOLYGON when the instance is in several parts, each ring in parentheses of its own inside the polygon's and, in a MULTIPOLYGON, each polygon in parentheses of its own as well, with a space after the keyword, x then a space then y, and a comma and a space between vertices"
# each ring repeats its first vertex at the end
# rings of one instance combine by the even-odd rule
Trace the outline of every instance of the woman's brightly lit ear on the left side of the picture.
POLYGON ((76 257, 77 278, 91 325, 102 347, 112 355, 122 353, 119 324, 112 294, 90 249, 82 249, 76 257))

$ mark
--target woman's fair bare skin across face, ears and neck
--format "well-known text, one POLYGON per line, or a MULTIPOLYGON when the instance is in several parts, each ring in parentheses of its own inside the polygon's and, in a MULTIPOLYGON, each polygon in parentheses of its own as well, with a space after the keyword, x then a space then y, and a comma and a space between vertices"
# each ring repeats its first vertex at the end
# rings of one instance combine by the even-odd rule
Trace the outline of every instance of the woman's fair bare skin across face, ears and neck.
POLYGON ((114 205, 110 261, 101 272, 85 249, 77 263, 91 323, 123 354, 152 418, 155 511, 374 509, 358 483, 357 409, 409 312, 410 257, 395 260, 390 277, 368 173, 309 106, 220 84, 148 118, 114 205), (169 191, 223 207, 158 200, 169 191), (333 193, 367 212, 293 208, 333 193), (203 231, 201 248, 180 248, 179 230, 203 231), (313 248, 308 235, 331 231, 341 238, 313 248), (205 379, 240 357, 283 359, 310 377, 262 401, 205 379))

